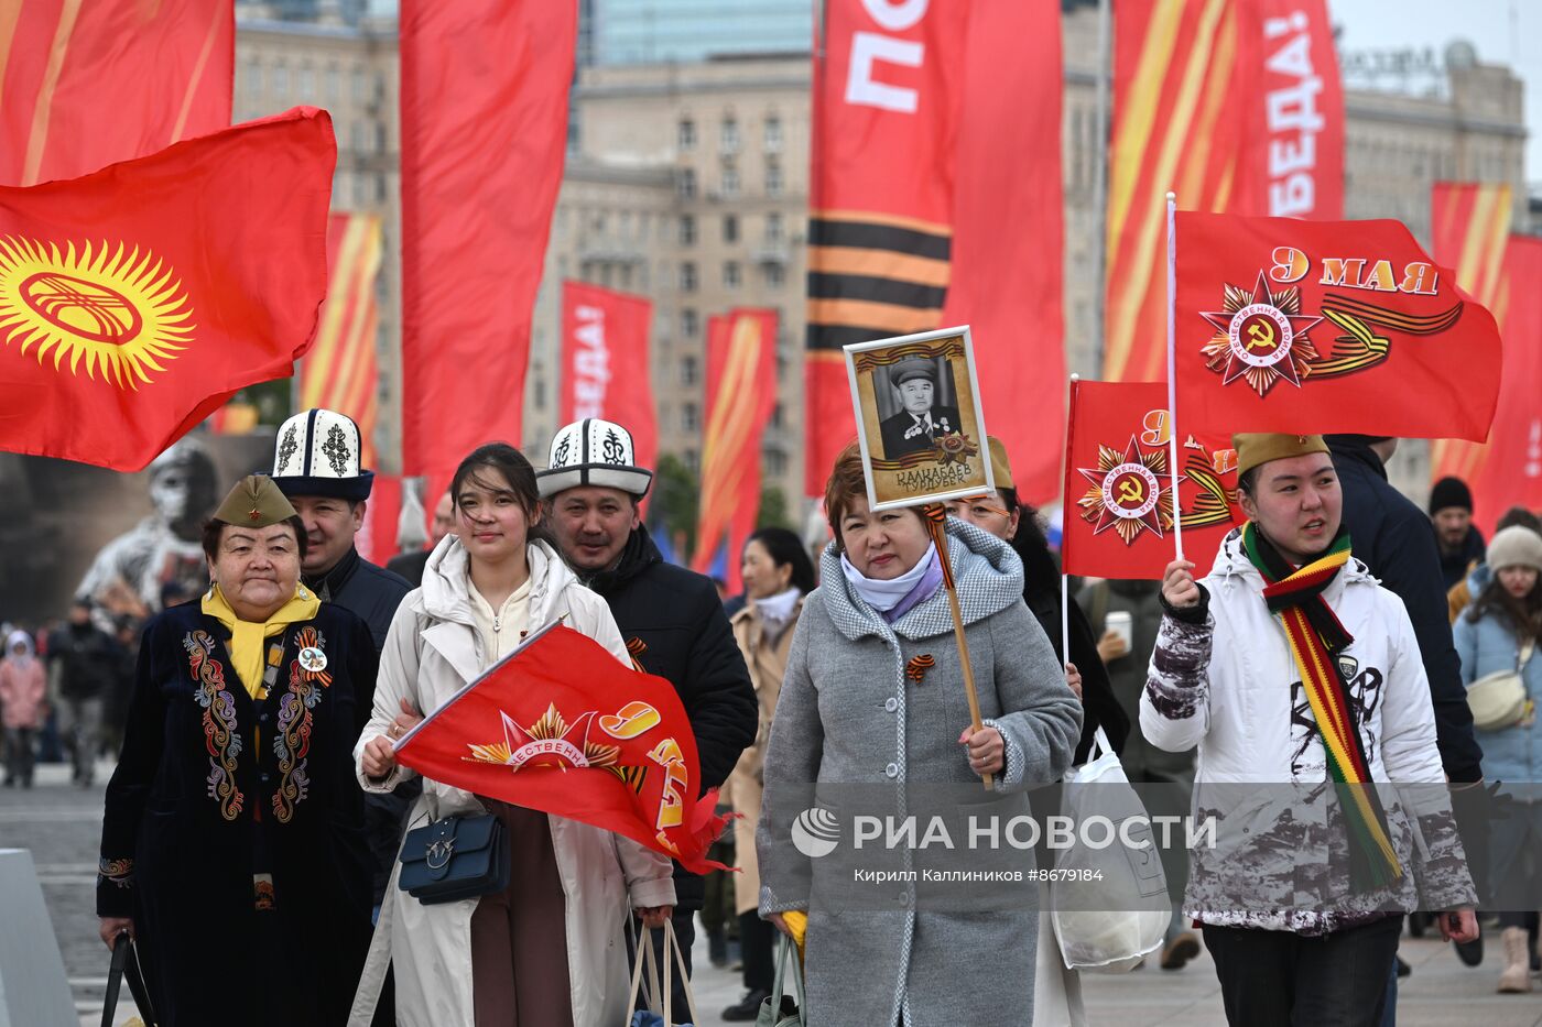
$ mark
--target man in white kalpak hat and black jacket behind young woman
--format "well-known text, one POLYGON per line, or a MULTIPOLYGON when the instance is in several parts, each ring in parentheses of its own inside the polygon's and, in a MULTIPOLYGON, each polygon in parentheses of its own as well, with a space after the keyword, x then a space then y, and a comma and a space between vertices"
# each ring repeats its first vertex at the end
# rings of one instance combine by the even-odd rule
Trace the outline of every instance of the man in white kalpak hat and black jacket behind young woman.
MULTIPOLYGON (((611 604, 632 658, 680 692, 702 791, 720 786, 756 739, 759 702, 712 580, 665 563, 638 517, 652 472, 635 466, 631 433, 609 421, 575 421, 552 439, 549 467, 537 478, 563 558, 611 604)), ((692 916, 706 890, 678 864, 674 876, 674 928, 689 971, 692 916)), ((683 1007, 683 988, 675 1001, 683 1007)))

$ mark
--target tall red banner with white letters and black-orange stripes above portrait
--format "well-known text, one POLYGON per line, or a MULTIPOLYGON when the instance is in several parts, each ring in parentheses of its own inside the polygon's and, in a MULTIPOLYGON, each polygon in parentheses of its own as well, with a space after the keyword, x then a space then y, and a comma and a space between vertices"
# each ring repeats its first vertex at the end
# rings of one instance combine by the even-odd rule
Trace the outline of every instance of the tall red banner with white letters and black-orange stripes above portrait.
POLYGON ((959 5, 825 5, 808 221, 810 495, 857 435, 840 347, 942 324, 967 17, 959 5))

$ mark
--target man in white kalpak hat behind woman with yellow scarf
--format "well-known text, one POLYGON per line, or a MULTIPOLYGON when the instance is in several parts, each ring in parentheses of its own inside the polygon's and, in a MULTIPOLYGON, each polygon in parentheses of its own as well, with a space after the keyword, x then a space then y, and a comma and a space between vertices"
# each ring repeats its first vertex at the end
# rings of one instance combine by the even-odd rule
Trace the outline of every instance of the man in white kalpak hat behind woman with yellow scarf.
MULTIPOLYGON (((362 620, 378 657, 402 597, 412 586, 378 567, 353 544, 364 526, 375 472, 359 466, 359 426, 332 410, 305 410, 279 427, 273 455, 273 483, 305 521, 305 560, 301 580, 324 603, 336 603, 362 620)), ((370 682, 370 692, 373 692, 370 682)), ((401 845, 402 820, 423 791, 416 776, 389 796, 364 796, 364 830, 375 871, 375 905, 381 904, 401 845)))

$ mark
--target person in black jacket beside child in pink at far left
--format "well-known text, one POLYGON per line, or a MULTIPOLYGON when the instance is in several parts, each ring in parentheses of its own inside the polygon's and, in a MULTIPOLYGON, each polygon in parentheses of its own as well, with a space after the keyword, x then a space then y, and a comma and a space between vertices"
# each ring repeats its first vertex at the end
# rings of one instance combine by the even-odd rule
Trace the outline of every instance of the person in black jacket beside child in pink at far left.
POLYGON ((91 600, 69 604, 69 623, 48 637, 51 689, 59 711, 59 732, 74 762, 72 780, 89 788, 102 749, 102 716, 117 682, 117 646, 96 626, 91 600))

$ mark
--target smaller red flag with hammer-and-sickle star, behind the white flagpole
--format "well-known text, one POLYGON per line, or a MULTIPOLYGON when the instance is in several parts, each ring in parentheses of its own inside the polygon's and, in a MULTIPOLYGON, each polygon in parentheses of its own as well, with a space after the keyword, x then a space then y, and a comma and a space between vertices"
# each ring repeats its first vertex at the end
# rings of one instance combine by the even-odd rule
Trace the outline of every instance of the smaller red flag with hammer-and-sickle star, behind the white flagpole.
MULTIPOLYGON (((1170 439, 1166 386, 1072 382, 1061 543, 1066 574, 1161 578, 1177 552, 1170 439)), ((1201 577, 1226 532, 1244 520, 1235 509, 1237 450, 1226 436, 1184 435, 1178 460, 1183 555, 1201 577)))

